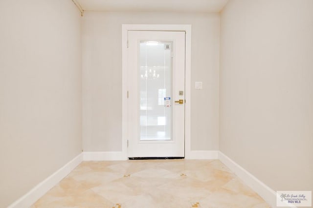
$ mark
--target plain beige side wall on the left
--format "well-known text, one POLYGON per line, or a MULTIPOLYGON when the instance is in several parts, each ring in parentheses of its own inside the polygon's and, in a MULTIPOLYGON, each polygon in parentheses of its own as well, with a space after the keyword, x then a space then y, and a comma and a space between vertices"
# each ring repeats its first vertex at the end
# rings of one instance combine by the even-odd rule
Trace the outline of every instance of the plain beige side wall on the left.
POLYGON ((1 0, 0 14, 4 208, 81 152, 81 17, 71 0, 1 0))

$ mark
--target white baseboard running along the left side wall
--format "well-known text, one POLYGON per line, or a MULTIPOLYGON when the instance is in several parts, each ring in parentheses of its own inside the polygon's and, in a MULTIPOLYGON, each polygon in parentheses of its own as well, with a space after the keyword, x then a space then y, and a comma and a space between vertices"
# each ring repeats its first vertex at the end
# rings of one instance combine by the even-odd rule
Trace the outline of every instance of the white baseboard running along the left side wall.
POLYGON ((57 185, 64 177, 66 177, 76 166, 83 161, 83 155, 80 153, 74 159, 69 161, 66 165, 58 169, 52 175, 47 177, 44 181, 32 188, 20 199, 11 204, 8 208, 27 208, 32 206, 38 199, 52 187, 57 185))

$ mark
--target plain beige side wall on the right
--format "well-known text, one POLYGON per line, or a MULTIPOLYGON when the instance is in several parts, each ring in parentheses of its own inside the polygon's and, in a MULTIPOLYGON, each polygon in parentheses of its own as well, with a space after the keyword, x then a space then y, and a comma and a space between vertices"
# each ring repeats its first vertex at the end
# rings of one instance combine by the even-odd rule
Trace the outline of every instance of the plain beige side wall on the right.
POLYGON ((313 190, 313 1, 221 14, 220 150, 274 190, 313 190))

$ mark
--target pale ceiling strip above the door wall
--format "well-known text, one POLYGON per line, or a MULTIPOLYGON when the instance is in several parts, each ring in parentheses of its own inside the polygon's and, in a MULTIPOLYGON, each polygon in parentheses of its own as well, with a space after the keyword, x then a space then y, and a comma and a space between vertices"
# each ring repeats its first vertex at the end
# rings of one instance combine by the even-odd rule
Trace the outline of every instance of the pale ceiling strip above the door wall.
POLYGON ((220 12, 228 0, 76 0, 84 11, 220 12))

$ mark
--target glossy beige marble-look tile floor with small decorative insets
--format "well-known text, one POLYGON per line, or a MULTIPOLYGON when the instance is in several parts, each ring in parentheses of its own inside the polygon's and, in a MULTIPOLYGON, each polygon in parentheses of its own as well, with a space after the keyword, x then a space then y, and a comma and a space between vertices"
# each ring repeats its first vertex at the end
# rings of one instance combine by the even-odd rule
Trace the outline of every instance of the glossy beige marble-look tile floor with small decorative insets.
POLYGON ((83 162, 31 208, 269 208, 219 160, 83 162))

